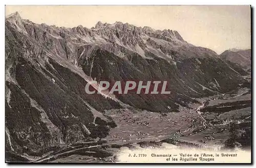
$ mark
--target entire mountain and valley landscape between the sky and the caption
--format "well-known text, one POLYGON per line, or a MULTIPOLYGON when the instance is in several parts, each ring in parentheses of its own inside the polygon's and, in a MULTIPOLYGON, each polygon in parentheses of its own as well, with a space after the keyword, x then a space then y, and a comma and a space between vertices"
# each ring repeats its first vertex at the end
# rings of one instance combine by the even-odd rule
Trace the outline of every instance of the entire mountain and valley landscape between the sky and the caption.
POLYGON ((119 152, 136 148, 222 150, 230 134, 250 150, 249 57, 225 60, 177 31, 119 21, 67 28, 17 12, 5 21, 6 162, 118 162, 119 152), (166 81, 170 93, 110 93, 93 81, 166 81), (86 93, 88 83, 96 94, 86 93))

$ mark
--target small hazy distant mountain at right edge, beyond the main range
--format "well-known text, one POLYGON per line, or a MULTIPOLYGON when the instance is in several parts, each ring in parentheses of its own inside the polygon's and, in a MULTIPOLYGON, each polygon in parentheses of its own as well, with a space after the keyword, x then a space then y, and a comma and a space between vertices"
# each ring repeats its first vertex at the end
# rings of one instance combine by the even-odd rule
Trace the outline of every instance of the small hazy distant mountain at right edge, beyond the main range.
POLYGON ((244 68, 251 67, 251 49, 246 50, 225 50, 220 54, 220 58, 241 65, 244 68))

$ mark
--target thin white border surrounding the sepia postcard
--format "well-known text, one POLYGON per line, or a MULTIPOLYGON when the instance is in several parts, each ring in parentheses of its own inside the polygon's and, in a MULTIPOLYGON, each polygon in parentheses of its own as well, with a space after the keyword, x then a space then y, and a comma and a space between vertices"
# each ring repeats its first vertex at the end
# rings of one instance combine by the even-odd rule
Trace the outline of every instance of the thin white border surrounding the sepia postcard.
MULTIPOLYGON (((252 5, 252 7, 255 8, 255 0, 243 0, 243 1, 223 1, 223 0, 215 0, 215 1, 199 1, 199 0, 194 0, 194 1, 189 1, 189 0, 177 0, 177 1, 163 1, 163 0, 157 0, 157 1, 138 1, 138 0, 130 0, 130 1, 114 1, 114 0, 108 0, 108 1, 104 1, 104 0, 94 0, 94 1, 87 1, 85 3, 82 3, 82 1, 76 1, 76 0, 61 0, 61 1, 52 1, 52 0, 45 0, 45 1, 29 1, 29 0, 24 0, 24 1, 7 1, 7 0, 3 0, 1 1, 1 6, 0 6, 0 13, 2 14, 1 18, 1 61, 0 61, 0 78, 2 79, 2 81, 0 82, 0 88, 1 88, 1 93, 0 93, 0 103, 1 103, 1 113, 2 113, 2 118, 1 118, 1 126, 0 126, 0 135, 1 135, 1 147, 0 147, 0 151, 1 151, 1 161, 0 161, 0 166, 1 167, 7 167, 8 165, 5 163, 5 116, 4 116, 4 111, 5 111, 5 6, 4 5, 252 5)), ((254 9, 255 10, 255 9, 254 9)), ((255 12, 254 12, 255 13, 255 12)), ((54 17, 54 16, 53 16, 54 17)), ((253 17, 253 21, 255 21, 255 17, 253 17)), ((253 38, 254 39, 254 38, 253 38)), ((255 48, 255 44, 253 44, 253 50, 255 48)), ((252 56, 254 57, 254 55, 252 56)), ((255 60, 253 59, 253 65, 255 65, 255 60)), ((252 79, 254 78, 255 74, 253 73, 252 79)), ((255 83, 254 83, 255 84, 255 83)), ((254 85, 253 85, 254 88, 254 85)), ((254 93, 254 90, 253 90, 254 93)), ((253 104, 254 103, 254 99, 253 99, 253 104)), ((253 111, 255 110, 255 105, 253 106, 253 111)), ((255 121, 255 114, 253 115, 253 120, 255 121)), ((255 129, 253 128, 253 135, 255 135, 255 129)), ((253 146, 252 146, 253 147, 253 146)), ((254 149, 254 147, 253 147, 254 149)), ((254 154, 255 155, 255 154, 254 154)), ((253 157, 254 160, 255 157, 253 157)), ((255 160, 254 160, 255 161, 255 160)), ((39 164, 38 164, 39 165, 39 164)), ((62 164, 63 165, 63 164, 62 164)), ((53 165, 53 164, 40 164, 40 166, 42 167, 55 167, 55 166, 62 166, 62 165, 53 165)), ((86 166, 86 167, 95 167, 95 166, 113 166, 113 164, 104 164, 104 165, 97 165, 97 164, 76 164, 75 166, 86 166)), ((17 166, 17 165, 12 165, 12 166, 17 166)), ((19 165, 19 167, 27 167, 29 166, 28 164, 26 165, 19 165)), ((30 166, 35 166, 35 164, 32 164, 30 166)), ((65 166, 67 167, 73 167, 74 165, 70 165, 70 164, 66 164, 65 166)), ((124 165, 114 165, 114 166, 124 166, 124 165)), ((126 165, 127 166, 127 165, 126 165)), ((137 164, 137 165, 128 165, 128 166, 133 166, 133 167, 140 167, 140 166, 148 166, 148 165, 142 165, 142 164, 137 164)), ((158 166, 158 165, 151 165, 151 166, 158 166)), ((159 164, 159 166, 161 166, 159 164)), ((173 165, 173 164, 167 164, 165 166, 171 166, 171 167, 185 167, 185 166, 198 166, 198 165, 185 165, 185 164, 180 164, 180 165, 173 165)), ((201 165, 201 166, 205 166, 205 164, 201 165)), ((215 167, 224 167, 226 166, 225 164, 223 165, 213 165, 215 167)), ((239 165, 242 167, 242 165, 239 165)), ((245 165, 243 165, 245 166, 245 165)))

